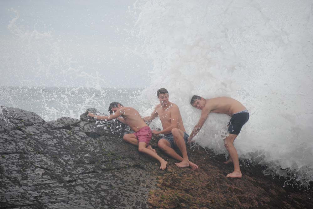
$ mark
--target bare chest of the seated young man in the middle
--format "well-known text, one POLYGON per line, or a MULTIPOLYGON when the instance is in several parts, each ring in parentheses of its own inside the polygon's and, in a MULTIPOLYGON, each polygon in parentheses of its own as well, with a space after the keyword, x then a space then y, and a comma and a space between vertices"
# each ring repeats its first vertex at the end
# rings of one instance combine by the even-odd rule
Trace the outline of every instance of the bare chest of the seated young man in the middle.
POLYGON ((175 128, 178 128, 181 131, 186 132, 183 120, 180 115, 179 108, 176 104, 170 102, 168 107, 165 109, 159 104, 156 106, 155 110, 158 112, 163 130, 170 127, 173 124, 175 125, 175 128))

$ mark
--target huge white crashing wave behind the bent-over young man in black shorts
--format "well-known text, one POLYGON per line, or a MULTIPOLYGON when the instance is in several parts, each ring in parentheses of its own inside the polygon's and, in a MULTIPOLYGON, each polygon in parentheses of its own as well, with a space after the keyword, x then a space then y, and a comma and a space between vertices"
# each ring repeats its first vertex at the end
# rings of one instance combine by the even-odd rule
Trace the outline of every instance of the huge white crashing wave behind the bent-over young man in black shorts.
MULTIPOLYGON (((154 63, 143 98, 155 103, 156 90, 167 88, 189 133, 200 117, 192 95, 235 98, 250 112, 235 141, 239 156, 260 157, 266 173, 313 180, 311 1, 154 0, 135 7, 143 52, 154 63)), ((228 120, 211 113, 196 142, 226 153, 228 120)))

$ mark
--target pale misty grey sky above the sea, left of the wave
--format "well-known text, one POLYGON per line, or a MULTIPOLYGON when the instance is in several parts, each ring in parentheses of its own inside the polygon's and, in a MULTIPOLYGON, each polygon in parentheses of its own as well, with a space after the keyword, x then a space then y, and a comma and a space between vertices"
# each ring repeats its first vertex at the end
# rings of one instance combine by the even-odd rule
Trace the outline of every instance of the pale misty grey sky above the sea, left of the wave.
POLYGON ((1 85, 145 87, 134 3, 0 1, 1 85))

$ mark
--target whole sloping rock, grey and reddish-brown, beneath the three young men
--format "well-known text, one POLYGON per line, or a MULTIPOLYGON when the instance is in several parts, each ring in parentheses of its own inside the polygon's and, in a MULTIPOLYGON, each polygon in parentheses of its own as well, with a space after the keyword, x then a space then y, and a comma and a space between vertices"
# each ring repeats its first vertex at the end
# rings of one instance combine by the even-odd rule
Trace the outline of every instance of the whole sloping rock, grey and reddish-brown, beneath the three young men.
MULTIPOLYGON (((96 110, 91 110, 97 112, 96 110)), ((188 147, 199 169, 180 169, 151 144, 168 168, 123 142, 116 122, 1 107, 0 208, 313 208, 312 189, 283 187, 262 167, 241 161, 242 179, 227 179, 224 156, 188 147)))

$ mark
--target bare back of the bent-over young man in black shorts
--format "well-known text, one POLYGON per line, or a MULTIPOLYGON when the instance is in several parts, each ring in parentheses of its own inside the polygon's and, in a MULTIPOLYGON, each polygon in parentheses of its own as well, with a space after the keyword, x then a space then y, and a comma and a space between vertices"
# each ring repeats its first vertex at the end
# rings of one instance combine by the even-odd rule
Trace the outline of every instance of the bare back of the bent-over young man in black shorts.
POLYGON ((230 97, 217 97, 213 99, 207 99, 205 108, 210 109, 210 112, 224 113, 232 116, 234 113, 246 110, 239 101, 230 97))

